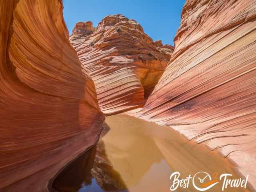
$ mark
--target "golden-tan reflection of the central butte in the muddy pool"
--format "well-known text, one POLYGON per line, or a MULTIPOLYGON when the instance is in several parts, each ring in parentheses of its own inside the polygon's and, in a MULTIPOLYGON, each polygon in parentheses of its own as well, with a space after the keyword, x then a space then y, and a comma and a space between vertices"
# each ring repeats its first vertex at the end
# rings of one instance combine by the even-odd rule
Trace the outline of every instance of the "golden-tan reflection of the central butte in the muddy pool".
POLYGON ((144 129, 148 127, 144 125, 144 120, 114 115, 108 116, 105 121, 111 128, 102 137, 108 160, 128 188, 137 186, 152 165, 160 164, 164 157, 153 138, 145 134, 144 129))

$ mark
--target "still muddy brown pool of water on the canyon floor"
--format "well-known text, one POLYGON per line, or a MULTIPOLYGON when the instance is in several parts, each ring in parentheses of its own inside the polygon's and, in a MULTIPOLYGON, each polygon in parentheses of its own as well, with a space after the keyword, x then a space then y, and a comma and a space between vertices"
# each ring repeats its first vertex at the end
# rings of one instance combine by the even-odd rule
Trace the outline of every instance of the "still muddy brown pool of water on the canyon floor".
MULTIPOLYGON (((240 178, 235 167, 218 153, 203 144, 188 142, 170 127, 128 116, 108 116, 97 146, 72 162, 54 180, 53 187, 61 192, 170 192, 170 175, 180 172, 180 179, 198 172, 207 172, 212 180, 220 174, 240 178)), ((196 186, 207 184, 195 177, 196 186)), ((250 191, 226 188, 228 192, 250 191)), ((188 188, 176 192, 197 191, 192 179, 188 188)), ((222 191, 222 181, 207 191, 222 191)))

